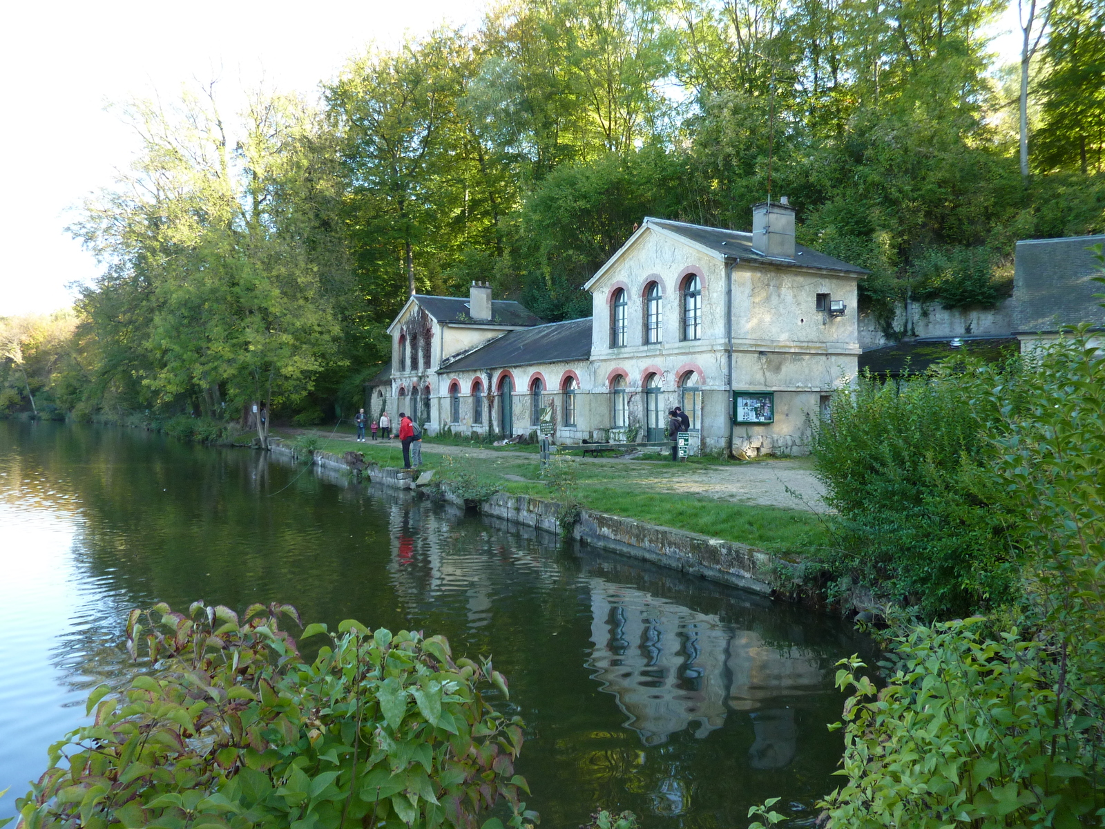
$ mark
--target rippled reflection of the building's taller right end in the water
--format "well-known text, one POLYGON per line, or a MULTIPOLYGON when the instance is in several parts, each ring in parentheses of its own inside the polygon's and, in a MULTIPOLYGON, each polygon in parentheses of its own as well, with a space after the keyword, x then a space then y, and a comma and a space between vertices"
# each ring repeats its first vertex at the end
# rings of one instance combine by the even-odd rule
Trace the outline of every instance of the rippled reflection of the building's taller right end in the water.
POLYGON ((590 583, 588 667, 645 745, 684 728, 703 738, 722 727, 727 713, 747 711, 756 735, 751 766, 781 768, 793 758, 793 711, 765 706, 825 690, 825 672, 812 654, 774 648, 755 631, 642 590, 590 583))

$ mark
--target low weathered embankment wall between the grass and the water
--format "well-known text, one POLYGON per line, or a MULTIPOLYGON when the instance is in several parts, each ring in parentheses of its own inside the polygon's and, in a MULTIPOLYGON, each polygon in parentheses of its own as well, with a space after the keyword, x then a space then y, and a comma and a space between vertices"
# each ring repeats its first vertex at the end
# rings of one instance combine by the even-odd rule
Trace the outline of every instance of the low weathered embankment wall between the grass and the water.
MULTIPOLYGON (((287 460, 299 458, 298 452, 288 447, 275 445, 272 452, 274 457, 287 460)), ((313 452, 312 463, 328 472, 345 475, 350 473, 349 462, 329 452, 313 452)), ((564 505, 529 495, 499 492, 478 503, 465 502, 448 482, 430 483, 425 476, 415 478, 415 473, 410 470, 369 465, 364 469, 362 475, 373 484, 408 490, 412 494, 439 499, 461 507, 475 506, 484 515, 558 536, 565 534, 565 525, 570 525, 568 532, 582 544, 762 596, 774 594, 771 574, 777 564, 775 557, 746 544, 644 524, 591 510, 578 510, 578 515, 573 510, 573 521, 564 521, 564 505), (429 485, 419 486, 420 482, 429 485)))

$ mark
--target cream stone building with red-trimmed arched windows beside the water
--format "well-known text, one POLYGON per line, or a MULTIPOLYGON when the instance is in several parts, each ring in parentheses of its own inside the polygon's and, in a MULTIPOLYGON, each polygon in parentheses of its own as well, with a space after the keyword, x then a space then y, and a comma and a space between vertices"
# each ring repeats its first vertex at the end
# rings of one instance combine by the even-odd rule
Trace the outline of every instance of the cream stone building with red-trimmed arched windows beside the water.
MULTIPOLYGON (((585 286, 592 316, 541 324, 487 285, 414 295, 389 327, 389 411, 433 434, 663 440, 688 413, 701 451, 801 452, 811 418, 856 372, 860 267, 794 243, 761 203, 753 232, 645 218, 585 286)), ((376 407, 373 407, 376 408, 376 407)))

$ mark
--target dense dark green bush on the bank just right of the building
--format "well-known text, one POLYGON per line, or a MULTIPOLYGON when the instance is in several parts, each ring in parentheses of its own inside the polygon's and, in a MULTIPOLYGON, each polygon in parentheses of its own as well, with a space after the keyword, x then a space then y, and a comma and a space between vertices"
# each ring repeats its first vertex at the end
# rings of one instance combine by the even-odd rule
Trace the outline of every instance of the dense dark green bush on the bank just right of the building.
POLYGON ((833 399, 812 450, 842 587, 875 585, 928 617, 1000 606, 1015 592, 1018 521, 992 474, 992 430, 1022 405, 1017 361, 945 363, 929 375, 861 379, 833 399), (997 386, 1006 399, 991 398, 997 386))

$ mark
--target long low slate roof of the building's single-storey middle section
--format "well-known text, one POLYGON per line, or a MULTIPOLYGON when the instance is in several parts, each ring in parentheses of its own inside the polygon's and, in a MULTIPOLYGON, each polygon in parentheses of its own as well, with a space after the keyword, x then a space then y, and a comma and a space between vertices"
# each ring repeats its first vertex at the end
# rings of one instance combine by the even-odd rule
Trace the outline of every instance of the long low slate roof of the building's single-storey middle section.
POLYGON ((438 374, 530 366, 535 363, 586 360, 590 357, 591 317, 583 317, 507 332, 474 351, 442 364, 438 374))

